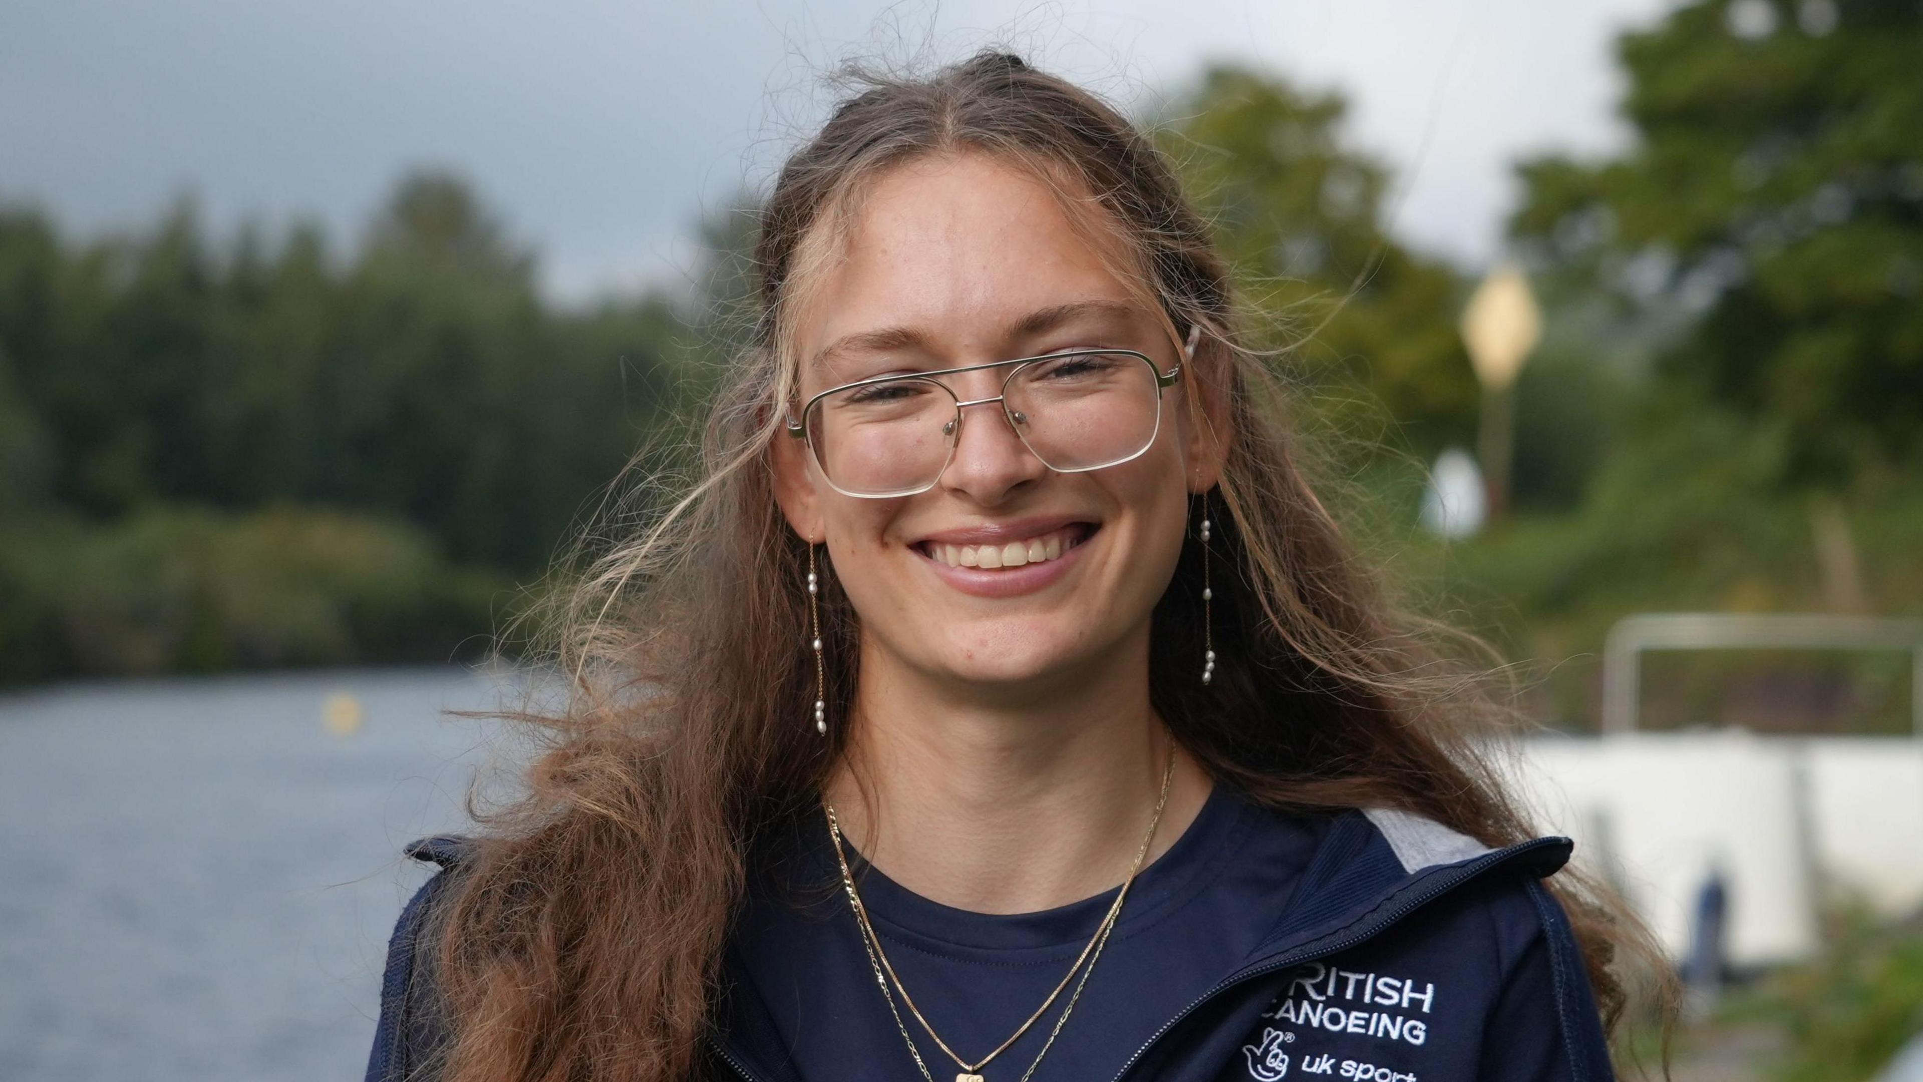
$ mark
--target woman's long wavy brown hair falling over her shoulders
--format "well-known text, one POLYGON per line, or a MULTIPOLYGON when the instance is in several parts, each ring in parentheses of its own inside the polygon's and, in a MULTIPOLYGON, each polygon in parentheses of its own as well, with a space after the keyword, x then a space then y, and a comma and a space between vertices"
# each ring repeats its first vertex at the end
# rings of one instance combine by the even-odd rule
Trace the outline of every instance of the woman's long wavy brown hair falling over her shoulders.
MULTIPOLYGON (((1481 745, 1479 683, 1385 603, 1290 447, 1286 391, 1246 329, 1208 225, 1121 114, 1015 56, 869 77, 781 171, 756 246, 760 322, 729 366, 700 474, 560 595, 554 708, 525 797, 483 816, 440 913, 452 1082, 671 1082, 700 1065, 719 957, 756 832, 810 801, 846 743, 858 618, 825 578, 829 737, 813 726, 808 551, 773 497, 769 445, 794 379, 787 312, 810 250, 867 179, 929 154, 998 154, 1100 208, 1190 366, 1227 404, 1215 533, 1217 678, 1196 682, 1200 558, 1154 612, 1150 695, 1219 784, 1279 809, 1406 809, 1488 845, 1531 836, 1481 745)), ((1192 397, 1190 397, 1192 400, 1192 397)), ((652 489, 660 495, 660 489, 652 489)), ((1558 876, 1563 880, 1563 876, 1558 876)), ((1635 924, 1561 886, 1590 978, 1635 924)))

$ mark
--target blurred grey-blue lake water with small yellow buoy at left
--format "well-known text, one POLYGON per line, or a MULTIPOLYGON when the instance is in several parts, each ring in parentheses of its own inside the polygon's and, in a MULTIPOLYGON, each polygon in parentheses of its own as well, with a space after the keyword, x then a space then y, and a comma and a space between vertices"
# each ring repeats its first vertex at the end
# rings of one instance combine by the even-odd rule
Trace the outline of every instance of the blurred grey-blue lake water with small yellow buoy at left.
POLYGON ((458 668, 0 695, 0 1078, 360 1078, 387 936, 496 751, 458 668))

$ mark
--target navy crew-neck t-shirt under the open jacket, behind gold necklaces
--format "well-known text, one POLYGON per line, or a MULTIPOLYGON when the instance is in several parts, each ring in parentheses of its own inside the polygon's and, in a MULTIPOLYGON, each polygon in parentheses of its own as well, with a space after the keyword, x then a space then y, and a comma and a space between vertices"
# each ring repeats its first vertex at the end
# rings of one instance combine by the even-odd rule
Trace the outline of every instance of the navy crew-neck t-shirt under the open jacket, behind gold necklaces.
MULTIPOLYGON (((1188 830, 1142 868, 1073 1015, 1035 1072, 1113 1078, 1156 1030, 1231 974, 1277 924, 1327 820, 1285 816, 1217 786, 1188 830)), ((808 1082, 919 1078, 840 888, 827 826, 800 816, 763 847, 729 951, 733 995, 754 995, 808 1082)), ((935 1030, 971 1063, 1061 980, 1113 901, 983 915, 919 897, 850 853, 888 961, 935 1030)), ((1013 1082, 1073 992, 983 1074, 1013 1082)), ((954 1065, 900 1007, 929 1072, 954 1065)))

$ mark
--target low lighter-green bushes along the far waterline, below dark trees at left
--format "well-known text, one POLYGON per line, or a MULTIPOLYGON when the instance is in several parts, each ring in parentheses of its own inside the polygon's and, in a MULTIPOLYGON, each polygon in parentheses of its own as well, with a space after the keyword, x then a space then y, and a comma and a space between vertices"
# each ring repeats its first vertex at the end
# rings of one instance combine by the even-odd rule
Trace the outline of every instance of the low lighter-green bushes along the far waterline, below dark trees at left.
POLYGON ((38 520, 0 533, 0 682, 473 657, 496 597, 500 576, 354 514, 38 520))

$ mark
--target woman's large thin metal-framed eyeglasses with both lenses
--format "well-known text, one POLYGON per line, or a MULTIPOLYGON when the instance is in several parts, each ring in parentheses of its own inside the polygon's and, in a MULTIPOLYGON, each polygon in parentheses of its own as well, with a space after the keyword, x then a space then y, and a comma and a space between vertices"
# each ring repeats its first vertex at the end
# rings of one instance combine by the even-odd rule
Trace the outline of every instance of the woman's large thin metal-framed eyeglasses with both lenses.
POLYGON ((912 497, 935 487, 962 439, 962 410, 1000 402, 1023 447, 1058 474, 1085 474, 1138 458, 1161 429, 1161 372, 1123 348, 1067 350, 877 375, 831 387, 790 416, 829 485, 848 497, 912 497), (937 375, 1008 368, 1002 393, 963 400, 937 375))

